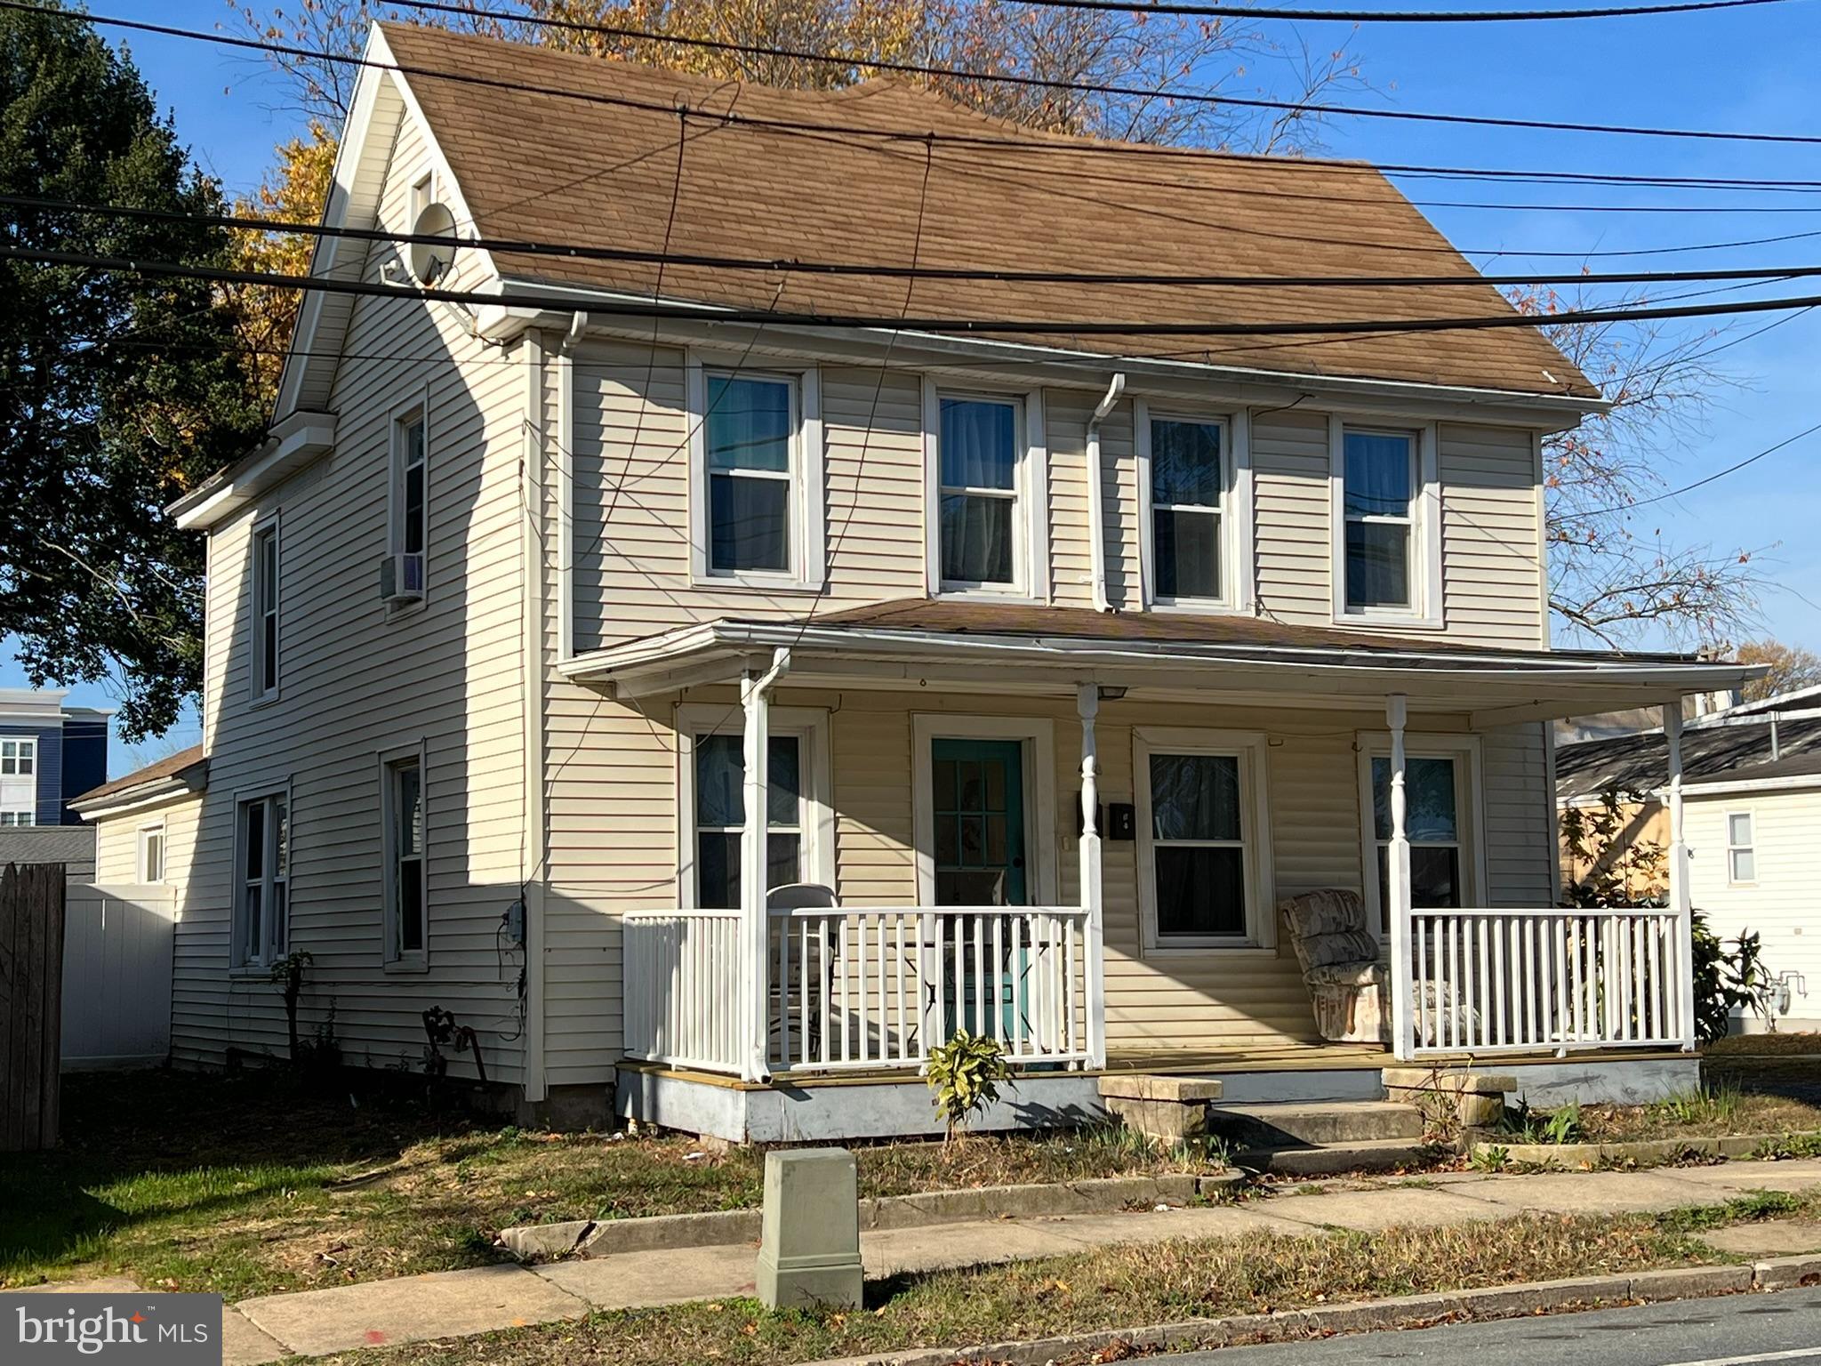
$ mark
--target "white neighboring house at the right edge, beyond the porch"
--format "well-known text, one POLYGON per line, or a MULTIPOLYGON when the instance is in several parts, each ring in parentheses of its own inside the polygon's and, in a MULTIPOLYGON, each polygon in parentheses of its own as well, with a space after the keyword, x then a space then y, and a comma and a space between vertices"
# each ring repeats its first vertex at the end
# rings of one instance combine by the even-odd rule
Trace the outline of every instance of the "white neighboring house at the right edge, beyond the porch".
MULTIPOLYGON (((1763 698, 1690 721, 1681 738, 1688 894, 1724 940, 1755 933, 1766 971, 1777 978, 1772 1018, 1779 1029, 1821 1027, 1821 940, 1816 938, 1821 814, 1821 688, 1763 698), (1808 982, 1814 980, 1814 996, 1808 982)), ((1666 849, 1668 756, 1661 730, 1615 736, 1557 752, 1564 809, 1623 794, 1623 827, 1606 863, 1637 845, 1666 849)), ((1584 867, 1566 867, 1570 878, 1584 867)), ((1650 880, 1641 880, 1650 882, 1650 880)), ((1637 894, 1661 891, 1639 885, 1637 894)), ((1766 1018, 1735 1013, 1739 1031, 1766 1018)))

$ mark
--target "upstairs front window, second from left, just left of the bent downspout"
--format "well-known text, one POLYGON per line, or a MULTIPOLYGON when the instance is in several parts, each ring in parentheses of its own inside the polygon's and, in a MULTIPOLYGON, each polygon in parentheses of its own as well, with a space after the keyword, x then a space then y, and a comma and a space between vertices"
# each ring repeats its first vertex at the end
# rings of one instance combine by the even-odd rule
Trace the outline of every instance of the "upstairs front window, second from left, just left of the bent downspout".
POLYGON ((1042 596, 1049 514, 1038 393, 938 393, 925 381, 932 592, 1042 596))

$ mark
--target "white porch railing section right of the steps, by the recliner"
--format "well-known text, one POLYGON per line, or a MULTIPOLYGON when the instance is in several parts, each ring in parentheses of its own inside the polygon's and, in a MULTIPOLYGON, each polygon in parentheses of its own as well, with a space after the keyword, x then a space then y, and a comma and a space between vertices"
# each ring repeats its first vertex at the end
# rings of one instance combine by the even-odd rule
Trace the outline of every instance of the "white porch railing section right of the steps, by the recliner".
POLYGON ((1411 911, 1415 1056, 1681 1047, 1675 911, 1411 911))

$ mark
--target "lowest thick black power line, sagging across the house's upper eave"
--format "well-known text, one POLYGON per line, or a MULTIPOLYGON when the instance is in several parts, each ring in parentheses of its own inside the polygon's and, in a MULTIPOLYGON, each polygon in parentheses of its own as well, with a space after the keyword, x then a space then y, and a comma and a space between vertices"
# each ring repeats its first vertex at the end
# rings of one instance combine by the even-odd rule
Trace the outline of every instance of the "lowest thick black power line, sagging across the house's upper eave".
MULTIPOLYGON (((177 279, 213 280, 217 284, 264 284, 282 290, 311 290, 381 299, 415 299, 455 304, 488 304, 501 308, 534 308, 561 313, 595 313, 601 317, 666 317, 694 322, 758 322, 778 326, 932 331, 958 335, 1062 335, 1062 337, 1357 337, 1373 333, 1426 331, 1488 331, 1501 328, 1568 326, 1577 322, 1630 322, 1681 317, 1715 317, 1723 313, 1774 313, 1821 304, 1821 295, 1794 299, 1746 299, 1719 304, 1684 304, 1672 308, 1581 308, 1562 310, 1548 317, 1526 313, 1495 313, 1439 319, 1329 319, 1297 322, 1144 322, 1104 319, 991 319, 991 317, 909 317, 898 319, 876 313, 779 313, 756 308, 719 308, 699 304, 628 302, 590 295, 535 293, 504 290, 443 290, 426 286, 381 284, 377 280, 342 280, 313 275, 277 275, 268 271, 228 270, 219 266, 186 266, 175 260, 137 260, 127 257, 98 257, 82 251, 47 251, 0 244, 0 260, 29 260, 51 266, 87 266, 93 270, 138 271, 177 279)), ((1109 353, 1109 359, 1114 359, 1109 353)))

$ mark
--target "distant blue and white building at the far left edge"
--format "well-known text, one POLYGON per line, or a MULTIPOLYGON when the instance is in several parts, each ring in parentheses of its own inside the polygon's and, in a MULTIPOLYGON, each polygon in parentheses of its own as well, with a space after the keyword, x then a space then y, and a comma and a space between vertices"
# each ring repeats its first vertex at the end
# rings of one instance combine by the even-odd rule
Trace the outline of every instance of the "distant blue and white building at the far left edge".
POLYGON ((95 871, 95 831, 69 798, 107 776, 107 718, 69 707, 67 692, 0 688, 0 863, 95 871))

